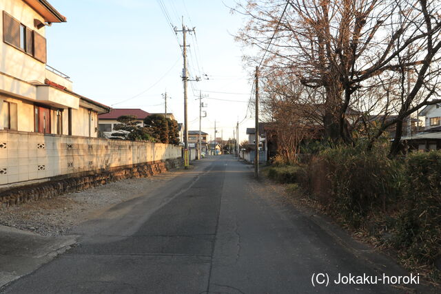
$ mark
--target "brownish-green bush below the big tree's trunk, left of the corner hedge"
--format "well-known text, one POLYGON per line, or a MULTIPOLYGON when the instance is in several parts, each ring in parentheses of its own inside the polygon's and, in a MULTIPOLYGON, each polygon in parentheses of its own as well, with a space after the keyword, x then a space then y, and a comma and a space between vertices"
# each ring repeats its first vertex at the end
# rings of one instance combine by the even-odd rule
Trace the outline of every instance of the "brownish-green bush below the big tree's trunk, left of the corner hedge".
POLYGON ((386 211, 402 195, 403 165, 382 149, 334 147, 319 154, 330 173, 329 205, 352 227, 371 211, 386 211))

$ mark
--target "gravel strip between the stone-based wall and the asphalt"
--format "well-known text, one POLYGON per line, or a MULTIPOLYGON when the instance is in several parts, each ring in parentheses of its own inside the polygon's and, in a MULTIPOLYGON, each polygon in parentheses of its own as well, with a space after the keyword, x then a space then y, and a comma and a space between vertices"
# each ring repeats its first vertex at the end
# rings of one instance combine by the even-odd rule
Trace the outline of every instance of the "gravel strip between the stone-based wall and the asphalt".
POLYGON ((97 212, 158 189, 179 173, 178 170, 169 171, 150 178, 111 182, 57 198, 0 209, 0 224, 40 235, 65 235, 76 224, 96 216, 97 212))

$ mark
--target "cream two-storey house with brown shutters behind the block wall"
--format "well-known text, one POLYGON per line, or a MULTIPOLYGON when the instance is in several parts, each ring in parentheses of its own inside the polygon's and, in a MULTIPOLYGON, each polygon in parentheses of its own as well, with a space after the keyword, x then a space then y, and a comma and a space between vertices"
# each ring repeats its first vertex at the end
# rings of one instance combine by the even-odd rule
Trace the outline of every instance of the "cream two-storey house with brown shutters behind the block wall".
POLYGON ((98 136, 98 114, 110 107, 46 64, 45 31, 65 21, 46 0, 0 0, 0 130, 98 136))

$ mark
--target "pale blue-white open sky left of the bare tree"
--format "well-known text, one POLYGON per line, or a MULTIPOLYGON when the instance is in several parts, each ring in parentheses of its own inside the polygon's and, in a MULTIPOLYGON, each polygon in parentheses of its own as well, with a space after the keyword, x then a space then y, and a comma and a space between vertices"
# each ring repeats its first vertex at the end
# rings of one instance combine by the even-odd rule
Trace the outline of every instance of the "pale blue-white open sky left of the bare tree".
POLYGON ((70 76, 74 92, 113 108, 163 113, 167 92, 167 112, 183 123, 183 37, 172 27, 181 30, 184 22, 196 30, 187 34, 189 74, 201 77, 188 85, 189 130, 199 128, 201 90, 207 96, 203 132, 211 139, 216 120, 217 137, 222 131, 224 139, 233 137, 239 120, 239 141, 245 140, 245 128, 254 127, 247 112, 252 83, 242 62, 247 49, 234 41, 245 23, 230 11, 235 2, 50 0, 68 22, 46 30, 48 65, 70 76))

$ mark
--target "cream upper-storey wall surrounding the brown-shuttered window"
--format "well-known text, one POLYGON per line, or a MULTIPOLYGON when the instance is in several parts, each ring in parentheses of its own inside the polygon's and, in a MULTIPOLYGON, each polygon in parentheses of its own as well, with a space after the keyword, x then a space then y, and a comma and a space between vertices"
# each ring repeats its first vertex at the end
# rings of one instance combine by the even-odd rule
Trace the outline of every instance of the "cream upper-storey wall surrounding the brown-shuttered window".
MULTIPOLYGON (((39 81, 43 83, 45 79, 45 64, 3 42, 3 10, 26 27, 45 36, 45 27, 39 30, 34 27, 34 19, 39 19, 44 23, 43 17, 24 1, 0 1, 0 72, 19 78, 22 81, 39 81), (5 56, 8 56, 8 58, 5 58, 5 56)), ((1 85, 0 88, 2 88, 1 85)))

